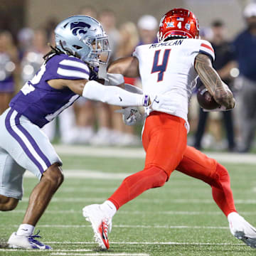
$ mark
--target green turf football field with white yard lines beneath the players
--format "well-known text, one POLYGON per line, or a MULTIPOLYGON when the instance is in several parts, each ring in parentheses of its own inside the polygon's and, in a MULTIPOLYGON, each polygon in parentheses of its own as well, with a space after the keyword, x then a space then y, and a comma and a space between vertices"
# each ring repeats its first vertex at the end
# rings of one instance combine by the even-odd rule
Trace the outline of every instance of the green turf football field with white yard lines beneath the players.
MULTIPOLYGON (((123 206, 113 219, 110 250, 97 250, 82 208, 105 201, 125 176, 143 169, 144 160, 67 154, 62 159, 65 181, 36 228, 41 241, 54 250, 2 248, 0 255, 256 255, 256 249, 230 234, 228 220, 213 202, 210 187, 177 171, 164 187, 146 191, 123 206)), ((256 225, 256 165, 225 166, 238 211, 256 225)), ((26 176, 23 201, 16 210, 0 213, 2 244, 21 223, 36 183, 36 178, 26 176)))

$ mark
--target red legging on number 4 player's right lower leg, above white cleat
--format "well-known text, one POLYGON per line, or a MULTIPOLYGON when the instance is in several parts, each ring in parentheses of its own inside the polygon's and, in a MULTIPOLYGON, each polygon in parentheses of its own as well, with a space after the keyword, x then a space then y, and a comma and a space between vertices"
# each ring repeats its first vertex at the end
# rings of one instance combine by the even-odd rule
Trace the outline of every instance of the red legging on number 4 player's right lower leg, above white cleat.
POLYGON ((224 166, 218 164, 216 168, 215 184, 210 184, 213 192, 213 199, 223 213, 228 216, 229 213, 236 212, 233 193, 230 188, 230 176, 224 166))

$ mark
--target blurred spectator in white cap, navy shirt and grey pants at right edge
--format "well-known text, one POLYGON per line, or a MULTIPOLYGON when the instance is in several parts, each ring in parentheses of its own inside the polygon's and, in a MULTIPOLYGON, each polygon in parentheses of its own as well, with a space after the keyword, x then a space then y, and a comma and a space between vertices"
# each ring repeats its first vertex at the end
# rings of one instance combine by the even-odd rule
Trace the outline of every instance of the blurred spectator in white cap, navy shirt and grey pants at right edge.
POLYGON ((234 41, 240 70, 240 152, 250 151, 256 129, 256 3, 245 7, 244 17, 247 28, 234 41))

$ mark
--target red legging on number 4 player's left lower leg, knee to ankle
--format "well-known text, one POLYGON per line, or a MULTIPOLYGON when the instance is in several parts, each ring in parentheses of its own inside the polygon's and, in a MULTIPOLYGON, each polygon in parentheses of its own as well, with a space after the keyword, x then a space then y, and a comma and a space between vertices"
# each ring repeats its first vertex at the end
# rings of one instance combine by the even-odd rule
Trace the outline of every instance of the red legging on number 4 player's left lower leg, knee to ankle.
POLYGON ((136 198, 147 189, 164 186, 167 178, 166 172, 159 167, 148 167, 137 174, 132 174, 125 178, 108 200, 114 203, 118 210, 124 203, 136 198))

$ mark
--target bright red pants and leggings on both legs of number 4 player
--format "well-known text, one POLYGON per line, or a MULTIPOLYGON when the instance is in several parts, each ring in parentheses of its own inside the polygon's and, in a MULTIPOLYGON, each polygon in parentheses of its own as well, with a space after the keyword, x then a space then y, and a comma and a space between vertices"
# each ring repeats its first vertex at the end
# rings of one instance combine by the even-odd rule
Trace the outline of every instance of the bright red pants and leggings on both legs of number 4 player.
POLYGON ((149 188, 164 186, 176 169, 208 183, 215 203, 226 216, 236 211, 228 171, 215 159, 186 146, 184 124, 179 117, 157 112, 146 119, 142 137, 146 151, 145 168, 125 178, 109 198, 117 209, 149 188))

